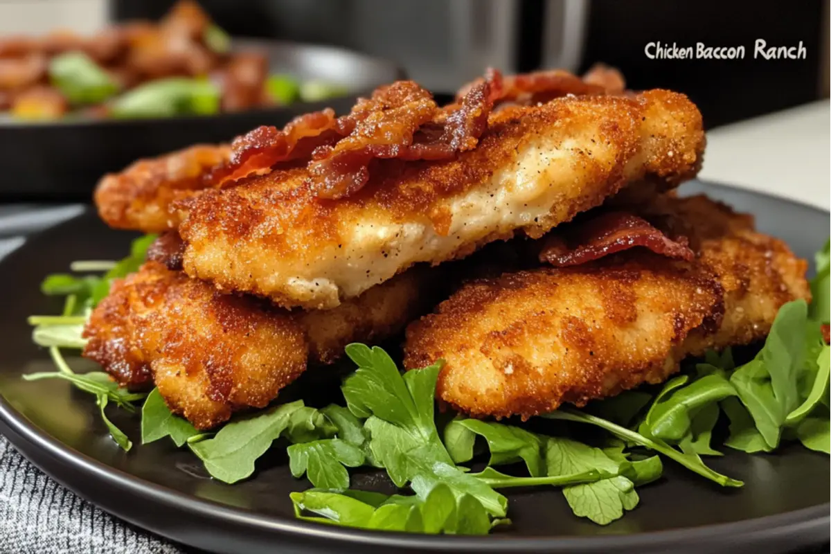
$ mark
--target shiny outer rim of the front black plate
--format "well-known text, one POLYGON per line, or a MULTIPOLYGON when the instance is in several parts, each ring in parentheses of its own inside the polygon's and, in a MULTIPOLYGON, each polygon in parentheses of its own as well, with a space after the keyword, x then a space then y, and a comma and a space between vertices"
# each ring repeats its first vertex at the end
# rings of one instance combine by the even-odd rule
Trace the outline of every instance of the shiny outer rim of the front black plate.
MULTIPOLYGON (((811 204, 697 179, 696 182, 705 184, 706 188, 712 187, 774 199, 777 202, 787 202, 826 215, 822 209, 811 204)), ((23 243, 21 247, 16 248, 13 252, 9 252, 7 257, 2 259, 0 268, 11 266, 15 261, 14 258, 17 257, 19 252, 23 251, 29 239, 40 238, 49 233, 60 233, 61 228, 75 223, 78 219, 89 217, 92 211, 92 208, 86 207, 82 213, 73 218, 38 233, 33 233, 27 238, 26 243, 23 243)), ((690 542, 696 544, 696 549, 706 545, 719 544, 722 546, 726 544, 731 548, 735 548, 739 542, 741 547, 746 548, 787 539, 791 547, 796 547, 809 542, 831 539, 831 501, 812 507, 738 522, 632 534, 598 533, 581 537, 510 537, 508 535, 451 537, 334 527, 280 516, 266 516, 244 508, 231 507, 207 498, 182 493, 127 473, 120 468, 103 463, 61 443, 61 441, 48 434, 47 431, 32 423, 25 415, 18 412, 2 395, 2 391, 0 391, 0 431, 18 452, 44 473, 47 473, 50 478, 61 483, 62 486, 78 494, 81 498, 93 503, 96 507, 170 540, 200 547, 205 546, 195 544, 191 540, 183 540, 180 536, 177 537, 174 532, 169 531, 170 527, 148 526, 144 521, 132 517, 129 509, 118 509, 118 507, 111 504, 107 504, 105 507, 103 503, 91 498, 93 495, 88 494, 86 488, 79 486, 77 483, 67 483, 68 480, 58 477, 56 471, 45 468, 44 465, 46 464, 42 463, 42 460, 49 458, 62 465, 70 466, 76 472, 85 474, 90 481, 89 488, 103 486, 106 488, 106 493, 132 495, 145 502, 160 504, 165 508, 172 507, 182 510, 189 515, 195 515, 207 521, 230 523, 234 526, 236 532, 265 532, 275 538, 285 537, 294 541, 325 542, 331 546, 334 546, 332 542, 335 542, 342 547, 383 547, 405 550, 418 548, 431 552, 446 550, 454 552, 629 552, 635 548, 641 551, 647 549, 661 552, 666 548, 679 547, 690 542), (804 538, 807 538, 809 542, 799 542, 800 539, 804 540, 804 538)), ((130 505, 130 503, 124 504, 126 506, 130 505)), ((192 536, 189 535, 188 537, 192 536)), ((308 546, 312 547, 312 544, 308 546)))

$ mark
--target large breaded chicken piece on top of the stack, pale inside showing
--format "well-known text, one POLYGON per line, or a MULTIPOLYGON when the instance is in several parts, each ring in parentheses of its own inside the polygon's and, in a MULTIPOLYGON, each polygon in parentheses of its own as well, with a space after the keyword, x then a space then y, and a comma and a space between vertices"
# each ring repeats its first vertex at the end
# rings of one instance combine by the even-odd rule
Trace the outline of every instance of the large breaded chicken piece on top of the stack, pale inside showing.
POLYGON ((283 306, 331 308, 416 262, 464 257, 518 230, 538 237, 624 185, 696 174, 701 115, 686 96, 571 96, 490 116, 475 150, 376 160, 358 193, 315 196, 307 169, 183 204, 184 270, 283 306))

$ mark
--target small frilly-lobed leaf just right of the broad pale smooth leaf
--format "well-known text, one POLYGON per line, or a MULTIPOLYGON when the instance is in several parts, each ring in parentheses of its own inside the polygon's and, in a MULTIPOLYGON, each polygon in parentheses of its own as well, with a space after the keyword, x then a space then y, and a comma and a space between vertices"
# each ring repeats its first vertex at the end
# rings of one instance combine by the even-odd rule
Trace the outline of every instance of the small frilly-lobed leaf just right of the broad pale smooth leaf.
POLYGON ((322 439, 288 447, 289 468, 296 478, 307 473, 317 488, 349 488, 349 473, 343 466, 357 468, 364 463, 364 453, 341 439, 322 439))

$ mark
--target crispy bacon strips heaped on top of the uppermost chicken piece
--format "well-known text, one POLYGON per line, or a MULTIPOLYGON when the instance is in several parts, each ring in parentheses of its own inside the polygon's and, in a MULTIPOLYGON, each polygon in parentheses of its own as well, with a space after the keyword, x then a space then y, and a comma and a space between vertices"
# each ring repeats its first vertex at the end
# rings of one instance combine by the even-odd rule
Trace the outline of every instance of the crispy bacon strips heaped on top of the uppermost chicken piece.
POLYGON ((262 126, 238 137, 231 159, 206 179, 219 186, 268 173, 281 162, 311 158, 312 190, 321 198, 343 198, 366 184, 372 159, 449 159, 474 149, 501 90, 502 76, 491 70, 458 103, 442 109, 415 82, 396 81, 357 101, 348 115, 335 118, 332 110, 323 110, 283 130, 262 126))

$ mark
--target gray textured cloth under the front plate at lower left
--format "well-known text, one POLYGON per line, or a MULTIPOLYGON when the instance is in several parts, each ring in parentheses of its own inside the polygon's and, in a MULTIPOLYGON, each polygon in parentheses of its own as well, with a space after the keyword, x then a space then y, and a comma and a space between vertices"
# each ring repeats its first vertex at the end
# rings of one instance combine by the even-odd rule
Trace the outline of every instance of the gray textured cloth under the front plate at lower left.
POLYGON ((0 436, 2 554, 182 554, 52 481, 0 436))

